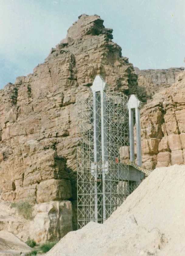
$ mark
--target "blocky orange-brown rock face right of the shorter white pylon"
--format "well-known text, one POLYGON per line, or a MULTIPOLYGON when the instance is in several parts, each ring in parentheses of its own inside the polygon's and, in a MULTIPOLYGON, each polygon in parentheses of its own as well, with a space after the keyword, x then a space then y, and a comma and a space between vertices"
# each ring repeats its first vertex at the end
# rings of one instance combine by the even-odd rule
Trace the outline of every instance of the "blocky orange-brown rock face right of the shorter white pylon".
POLYGON ((142 161, 148 169, 185 163, 185 72, 176 79, 141 110, 142 161))

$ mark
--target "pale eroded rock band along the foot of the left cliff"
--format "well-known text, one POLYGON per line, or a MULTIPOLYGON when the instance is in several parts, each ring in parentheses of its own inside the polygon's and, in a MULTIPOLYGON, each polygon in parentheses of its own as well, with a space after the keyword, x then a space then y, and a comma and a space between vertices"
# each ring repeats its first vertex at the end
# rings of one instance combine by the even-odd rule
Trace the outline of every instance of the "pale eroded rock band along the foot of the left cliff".
POLYGON ((69 200, 38 203, 33 207, 32 220, 26 220, 8 202, 0 202, 0 231, 7 230, 24 242, 37 243, 60 240, 73 230, 72 203, 69 200))

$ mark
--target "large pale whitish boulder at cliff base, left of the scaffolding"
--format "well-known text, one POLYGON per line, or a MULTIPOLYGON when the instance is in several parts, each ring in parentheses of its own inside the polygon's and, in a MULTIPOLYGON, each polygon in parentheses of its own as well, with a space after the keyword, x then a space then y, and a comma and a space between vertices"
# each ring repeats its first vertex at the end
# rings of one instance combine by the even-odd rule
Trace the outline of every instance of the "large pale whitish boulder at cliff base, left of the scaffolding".
POLYGON ((29 234, 37 243, 60 240, 73 230, 70 201, 36 204, 33 214, 34 219, 29 223, 29 234))

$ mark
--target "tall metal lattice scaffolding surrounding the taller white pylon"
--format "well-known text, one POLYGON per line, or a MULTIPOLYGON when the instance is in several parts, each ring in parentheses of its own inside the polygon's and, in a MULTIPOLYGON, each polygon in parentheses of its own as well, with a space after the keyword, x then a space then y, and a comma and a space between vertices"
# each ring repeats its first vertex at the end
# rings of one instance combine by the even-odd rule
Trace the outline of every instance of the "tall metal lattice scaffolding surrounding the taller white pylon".
POLYGON ((127 96, 104 88, 77 99, 78 228, 103 223, 137 187, 128 150, 127 96))

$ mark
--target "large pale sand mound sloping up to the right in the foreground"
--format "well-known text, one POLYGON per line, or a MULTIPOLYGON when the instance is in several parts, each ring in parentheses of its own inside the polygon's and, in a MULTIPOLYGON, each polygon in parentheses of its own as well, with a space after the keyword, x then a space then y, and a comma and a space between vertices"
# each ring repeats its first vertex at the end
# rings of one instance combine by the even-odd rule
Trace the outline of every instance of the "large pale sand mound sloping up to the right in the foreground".
POLYGON ((70 232, 47 256, 184 256, 185 165, 156 168, 104 224, 70 232))

